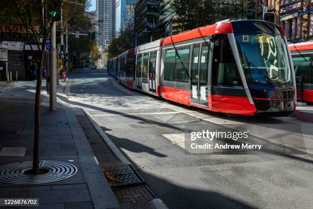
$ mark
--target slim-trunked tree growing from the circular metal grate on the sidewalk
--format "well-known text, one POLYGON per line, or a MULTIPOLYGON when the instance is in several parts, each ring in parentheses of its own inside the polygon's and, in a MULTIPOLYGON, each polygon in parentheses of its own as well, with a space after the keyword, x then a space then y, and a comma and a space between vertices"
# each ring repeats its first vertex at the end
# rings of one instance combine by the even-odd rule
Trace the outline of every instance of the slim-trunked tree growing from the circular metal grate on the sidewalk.
POLYGON ((45 56, 46 41, 51 30, 50 22, 53 22, 55 15, 53 11, 58 11, 61 7, 62 0, 15 0, 2 2, 0 14, 10 17, 8 22, 16 19, 24 25, 26 29, 27 43, 31 47, 31 51, 36 60, 39 60, 39 71, 36 83, 35 94, 35 130, 34 130, 34 155, 33 169, 34 175, 39 174, 39 142, 40 142, 40 92, 41 92, 41 77, 42 66, 45 56), (40 29, 34 27, 35 20, 40 20, 40 29), (42 36, 40 41, 39 36, 42 36), (35 42, 40 57, 36 56, 32 48, 32 41, 35 42), (41 46, 41 48, 40 48, 41 46))

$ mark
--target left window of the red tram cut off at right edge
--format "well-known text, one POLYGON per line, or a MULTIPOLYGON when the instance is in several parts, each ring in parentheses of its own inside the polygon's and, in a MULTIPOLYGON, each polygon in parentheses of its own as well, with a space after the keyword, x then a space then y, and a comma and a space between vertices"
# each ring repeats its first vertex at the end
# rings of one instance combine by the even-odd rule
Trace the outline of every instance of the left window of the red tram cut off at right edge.
POLYGON ((301 82, 301 74, 304 75, 304 83, 308 83, 310 71, 310 56, 294 55, 293 64, 296 75, 296 82, 301 82))

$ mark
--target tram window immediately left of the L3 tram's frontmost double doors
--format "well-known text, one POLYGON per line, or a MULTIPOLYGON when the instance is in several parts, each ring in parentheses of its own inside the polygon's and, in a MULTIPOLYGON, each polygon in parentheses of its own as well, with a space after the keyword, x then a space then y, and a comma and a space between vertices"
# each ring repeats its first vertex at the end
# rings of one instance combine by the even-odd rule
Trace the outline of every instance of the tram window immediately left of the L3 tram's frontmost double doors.
POLYGON ((175 81, 188 82, 190 46, 177 48, 175 81))

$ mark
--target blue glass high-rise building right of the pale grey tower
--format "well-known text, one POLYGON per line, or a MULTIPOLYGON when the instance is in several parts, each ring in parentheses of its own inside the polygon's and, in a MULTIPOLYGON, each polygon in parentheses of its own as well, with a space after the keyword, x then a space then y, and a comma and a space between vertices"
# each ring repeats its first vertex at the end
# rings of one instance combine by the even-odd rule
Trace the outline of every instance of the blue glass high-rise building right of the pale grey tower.
POLYGON ((138 0, 116 0, 115 30, 119 32, 124 25, 133 19, 135 5, 138 0))

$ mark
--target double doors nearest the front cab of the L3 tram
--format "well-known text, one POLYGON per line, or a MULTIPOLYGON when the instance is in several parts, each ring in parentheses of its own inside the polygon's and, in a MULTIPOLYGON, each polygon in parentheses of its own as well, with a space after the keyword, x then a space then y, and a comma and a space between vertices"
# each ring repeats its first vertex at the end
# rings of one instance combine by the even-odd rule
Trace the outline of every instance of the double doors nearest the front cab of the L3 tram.
POLYGON ((208 103, 208 64, 210 42, 193 45, 191 65, 191 102, 209 106, 208 103))

